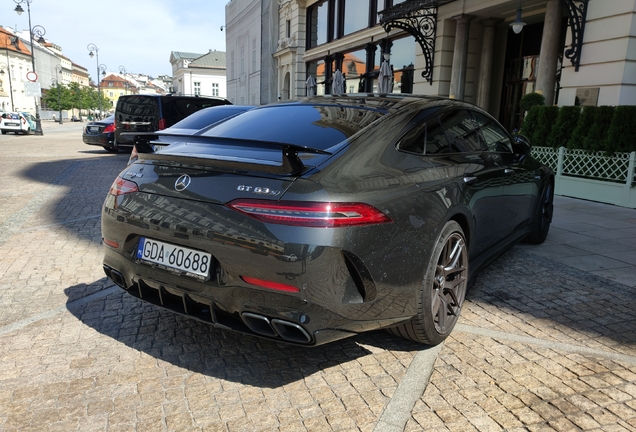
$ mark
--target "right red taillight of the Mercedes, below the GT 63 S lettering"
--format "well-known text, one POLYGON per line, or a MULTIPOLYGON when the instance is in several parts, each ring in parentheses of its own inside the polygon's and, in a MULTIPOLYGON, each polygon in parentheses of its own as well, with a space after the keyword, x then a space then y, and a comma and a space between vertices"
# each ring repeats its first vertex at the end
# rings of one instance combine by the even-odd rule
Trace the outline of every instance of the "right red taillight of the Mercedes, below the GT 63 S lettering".
POLYGON ((364 203, 320 203, 239 199, 228 207, 263 222, 306 227, 347 227, 392 222, 364 203))

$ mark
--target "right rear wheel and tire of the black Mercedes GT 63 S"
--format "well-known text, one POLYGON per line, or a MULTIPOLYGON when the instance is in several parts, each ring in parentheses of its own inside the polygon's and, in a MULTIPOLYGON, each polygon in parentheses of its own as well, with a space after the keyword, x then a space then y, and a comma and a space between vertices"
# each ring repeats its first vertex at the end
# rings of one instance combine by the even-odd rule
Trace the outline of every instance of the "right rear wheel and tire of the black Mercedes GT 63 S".
POLYGON ((455 327, 468 288, 468 247, 455 221, 444 225, 428 263, 417 315, 389 331, 427 345, 437 345, 455 327))

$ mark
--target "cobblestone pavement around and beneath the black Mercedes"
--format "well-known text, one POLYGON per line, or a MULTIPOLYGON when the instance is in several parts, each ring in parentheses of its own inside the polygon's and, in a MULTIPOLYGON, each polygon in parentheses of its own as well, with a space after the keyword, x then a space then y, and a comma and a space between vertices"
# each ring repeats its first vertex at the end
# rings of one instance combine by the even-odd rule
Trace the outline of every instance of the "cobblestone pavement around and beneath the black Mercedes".
POLYGON ((81 126, 0 136, 0 431, 636 431, 636 210, 570 228, 584 209, 559 197, 546 244, 481 273, 437 347, 291 347, 107 281, 100 207, 128 155, 81 126))

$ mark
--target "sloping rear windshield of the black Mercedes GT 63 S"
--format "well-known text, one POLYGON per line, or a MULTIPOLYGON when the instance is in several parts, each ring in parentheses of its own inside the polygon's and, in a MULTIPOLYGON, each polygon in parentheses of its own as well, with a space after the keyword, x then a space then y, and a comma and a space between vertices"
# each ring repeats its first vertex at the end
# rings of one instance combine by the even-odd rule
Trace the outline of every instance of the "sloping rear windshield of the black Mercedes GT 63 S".
POLYGON ((336 105, 275 105, 247 111, 203 135, 325 150, 364 129, 383 114, 378 110, 336 105))

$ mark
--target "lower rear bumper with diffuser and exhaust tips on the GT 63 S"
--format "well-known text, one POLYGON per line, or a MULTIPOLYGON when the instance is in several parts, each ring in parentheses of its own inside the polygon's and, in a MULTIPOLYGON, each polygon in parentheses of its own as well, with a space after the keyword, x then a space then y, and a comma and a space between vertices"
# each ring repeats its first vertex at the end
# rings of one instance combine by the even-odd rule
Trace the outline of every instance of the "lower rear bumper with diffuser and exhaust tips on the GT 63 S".
POLYGON ((153 277, 156 275, 144 271, 146 266, 131 266, 125 259, 116 259, 109 252, 104 262, 106 276, 139 300, 217 328, 294 345, 322 345, 357 333, 390 327, 410 318, 354 321, 285 294, 234 284, 196 289, 187 281, 178 283, 184 282, 183 278, 158 281, 153 277))

